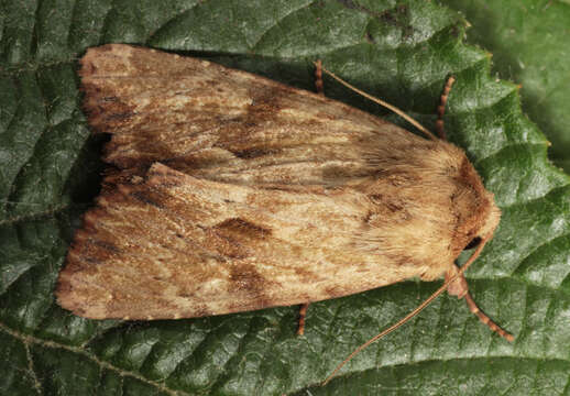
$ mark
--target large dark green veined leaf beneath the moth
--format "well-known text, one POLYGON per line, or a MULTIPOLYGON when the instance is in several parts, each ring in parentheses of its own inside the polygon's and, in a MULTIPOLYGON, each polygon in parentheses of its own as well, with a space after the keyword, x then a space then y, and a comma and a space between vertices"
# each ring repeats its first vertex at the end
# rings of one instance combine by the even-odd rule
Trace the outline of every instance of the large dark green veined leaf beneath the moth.
MULTIPOLYGON (((463 44, 465 24, 456 12, 424 0, 1 4, 0 393, 568 393, 570 179, 549 164, 547 140, 524 116, 516 86, 496 81, 487 53, 463 44), (463 301, 442 296, 321 387, 355 346, 440 283, 409 280, 313 304, 305 337, 295 336, 296 307, 153 322, 87 320, 59 308, 57 274, 105 167, 102 141, 89 136, 80 110, 76 59, 109 42, 208 57, 306 89, 311 62, 320 58, 428 127, 453 74, 448 135, 503 210, 469 284, 515 342, 491 333, 463 301)), ((325 84, 329 97, 405 124, 325 84)))

